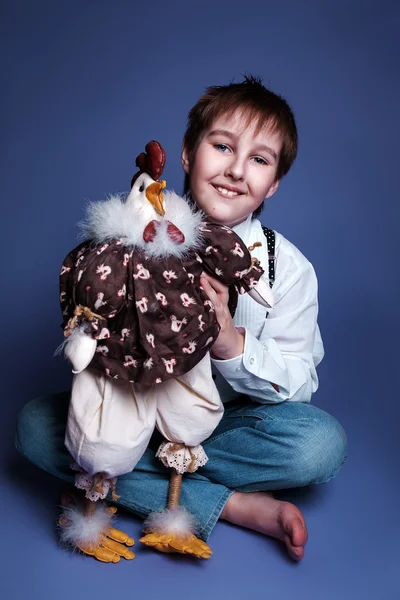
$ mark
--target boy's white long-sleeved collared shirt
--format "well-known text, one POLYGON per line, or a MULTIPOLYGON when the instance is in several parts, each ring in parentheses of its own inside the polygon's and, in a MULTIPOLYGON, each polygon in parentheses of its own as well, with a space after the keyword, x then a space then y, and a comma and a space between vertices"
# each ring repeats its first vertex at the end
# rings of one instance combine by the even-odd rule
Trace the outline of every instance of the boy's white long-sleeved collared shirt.
MULTIPOLYGON (((251 254, 260 260, 267 274, 267 240, 260 221, 249 215, 233 230, 247 246, 262 243, 251 254)), ((318 389, 316 367, 324 356, 324 346, 317 324, 317 277, 300 250, 278 232, 275 257, 275 304, 268 318, 267 309, 248 294, 239 296, 234 324, 245 329, 243 354, 229 360, 212 359, 222 376, 214 369, 224 402, 240 394, 268 404, 310 402, 318 389), (279 392, 270 381, 279 386, 279 392)))

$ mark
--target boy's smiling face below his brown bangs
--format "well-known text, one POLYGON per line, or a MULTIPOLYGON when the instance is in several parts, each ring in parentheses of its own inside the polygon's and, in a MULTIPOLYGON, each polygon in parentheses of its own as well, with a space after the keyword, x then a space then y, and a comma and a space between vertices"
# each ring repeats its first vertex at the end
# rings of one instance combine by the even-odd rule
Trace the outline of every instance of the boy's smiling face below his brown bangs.
POLYGON ((246 127, 240 110, 220 116, 202 136, 191 162, 182 151, 196 204, 216 223, 242 223, 277 190, 281 148, 279 133, 266 128, 256 134, 256 123, 246 127))

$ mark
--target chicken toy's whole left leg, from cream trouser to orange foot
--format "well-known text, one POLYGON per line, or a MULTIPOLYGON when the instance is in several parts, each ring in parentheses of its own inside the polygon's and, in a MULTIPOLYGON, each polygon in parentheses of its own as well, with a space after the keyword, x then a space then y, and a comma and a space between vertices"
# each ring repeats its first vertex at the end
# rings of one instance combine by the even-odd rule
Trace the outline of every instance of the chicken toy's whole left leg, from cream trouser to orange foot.
POLYGON ((155 426, 155 399, 151 388, 137 390, 90 369, 75 375, 66 428, 66 446, 78 473, 75 485, 85 499, 64 508, 61 539, 103 562, 130 560, 133 539, 111 527, 115 509, 101 500, 119 475, 140 460, 155 426))

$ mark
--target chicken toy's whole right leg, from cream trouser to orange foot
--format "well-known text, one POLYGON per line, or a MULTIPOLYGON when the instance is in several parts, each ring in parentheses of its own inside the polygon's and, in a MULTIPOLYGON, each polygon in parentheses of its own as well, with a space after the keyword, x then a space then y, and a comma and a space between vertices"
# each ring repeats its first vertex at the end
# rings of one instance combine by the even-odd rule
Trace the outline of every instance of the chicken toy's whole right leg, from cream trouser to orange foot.
POLYGON ((156 456, 172 468, 168 507, 149 515, 140 541, 161 552, 209 558, 210 547, 196 537, 193 517, 179 505, 182 475, 207 462, 200 442, 211 435, 223 414, 208 355, 186 375, 157 386, 157 411, 157 427, 167 441, 156 456))

